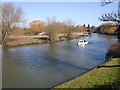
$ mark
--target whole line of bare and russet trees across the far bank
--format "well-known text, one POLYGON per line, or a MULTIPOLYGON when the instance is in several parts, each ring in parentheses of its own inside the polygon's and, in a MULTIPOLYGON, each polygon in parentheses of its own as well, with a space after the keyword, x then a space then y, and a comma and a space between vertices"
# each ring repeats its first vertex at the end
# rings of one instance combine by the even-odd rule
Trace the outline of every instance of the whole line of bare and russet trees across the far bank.
POLYGON ((84 25, 74 25, 70 19, 63 22, 58 21, 55 17, 46 18, 46 22, 41 20, 33 20, 29 23, 29 27, 21 27, 20 25, 25 20, 23 19, 23 10, 20 7, 15 7, 11 3, 2 3, 0 5, 0 43, 4 45, 10 36, 18 35, 37 35, 41 32, 46 32, 51 40, 54 40, 58 34, 67 34, 71 37, 74 32, 86 32, 90 29, 92 32, 102 34, 116 34, 115 23, 105 23, 98 27, 84 25))

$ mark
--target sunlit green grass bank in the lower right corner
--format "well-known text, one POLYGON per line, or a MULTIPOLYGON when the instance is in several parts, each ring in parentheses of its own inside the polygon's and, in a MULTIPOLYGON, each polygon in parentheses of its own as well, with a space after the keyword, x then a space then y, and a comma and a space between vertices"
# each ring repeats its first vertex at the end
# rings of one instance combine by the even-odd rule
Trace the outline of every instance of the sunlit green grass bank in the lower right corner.
MULTIPOLYGON (((83 74, 80 77, 76 77, 73 80, 65 82, 57 88, 110 88, 114 90, 118 87, 118 81, 120 73, 120 58, 114 58, 105 64, 93 69, 90 72, 83 74), (119 76, 119 77, 118 77, 119 76)), ((119 81, 120 84, 120 81, 119 81)), ((120 87, 120 86, 119 86, 120 87)), ((53 90, 54 90, 53 89, 53 90)))

